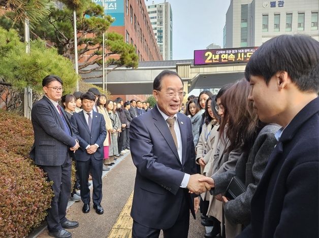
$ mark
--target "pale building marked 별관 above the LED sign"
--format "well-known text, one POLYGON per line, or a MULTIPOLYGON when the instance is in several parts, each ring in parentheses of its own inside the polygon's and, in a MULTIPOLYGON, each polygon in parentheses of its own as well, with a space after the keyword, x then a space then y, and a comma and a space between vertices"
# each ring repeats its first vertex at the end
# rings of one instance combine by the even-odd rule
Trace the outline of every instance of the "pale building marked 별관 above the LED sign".
POLYGON ((224 48, 260 46, 283 35, 302 33, 319 41, 318 0, 231 0, 224 48))

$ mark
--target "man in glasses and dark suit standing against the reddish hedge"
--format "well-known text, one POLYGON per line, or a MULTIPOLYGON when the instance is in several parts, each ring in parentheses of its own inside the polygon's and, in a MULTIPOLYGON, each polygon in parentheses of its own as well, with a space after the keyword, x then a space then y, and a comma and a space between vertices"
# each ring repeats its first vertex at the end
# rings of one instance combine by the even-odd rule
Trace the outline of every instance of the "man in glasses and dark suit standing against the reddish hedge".
POLYGON ((71 191, 71 157, 70 152, 79 148, 76 137, 63 109, 58 105, 62 96, 62 80, 54 75, 42 81, 45 96, 37 101, 31 111, 35 143, 30 157, 53 181, 54 197, 48 210, 49 235, 54 237, 71 237, 65 228, 75 228, 76 221, 66 218, 66 210, 71 191))

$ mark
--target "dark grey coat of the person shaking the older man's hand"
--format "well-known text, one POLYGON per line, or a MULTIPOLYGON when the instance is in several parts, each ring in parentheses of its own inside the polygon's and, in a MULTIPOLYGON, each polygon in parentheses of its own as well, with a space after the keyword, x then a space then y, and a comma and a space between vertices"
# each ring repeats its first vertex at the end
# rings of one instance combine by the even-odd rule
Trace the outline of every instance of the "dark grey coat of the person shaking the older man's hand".
POLYGON ((264 173, 268 158, 277 143, 274 133, 277 125, 267 125, 258 134, 249 154, 243 153, 234 170, 212 176, 215 182, 214 194, 224 193, 234 176, 246 185, 246 192, 224 204, 225 216, 235 224, 250 222, 250 201, 264 173))

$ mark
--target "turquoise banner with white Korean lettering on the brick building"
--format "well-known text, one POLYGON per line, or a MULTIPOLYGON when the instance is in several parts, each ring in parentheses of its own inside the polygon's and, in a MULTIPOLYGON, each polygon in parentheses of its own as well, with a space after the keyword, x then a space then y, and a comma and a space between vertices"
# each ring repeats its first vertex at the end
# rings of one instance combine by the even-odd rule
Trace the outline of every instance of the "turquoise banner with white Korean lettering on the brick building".
POLYGON ((115 21, 111 26, 124 25, 124 1, 123 0, 92 0, 93 3, 103 6, 104 1, 104 14, 111 15, 115 21))

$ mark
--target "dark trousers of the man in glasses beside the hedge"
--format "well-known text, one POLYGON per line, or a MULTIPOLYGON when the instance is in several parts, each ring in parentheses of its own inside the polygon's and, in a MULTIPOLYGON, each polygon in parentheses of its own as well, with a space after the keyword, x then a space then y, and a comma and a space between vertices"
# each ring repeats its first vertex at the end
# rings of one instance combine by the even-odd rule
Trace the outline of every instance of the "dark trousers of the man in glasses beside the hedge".
POLYGON ((46 173, 49 181, 53 181, 54 197, 51 208, 48 210, 48 230, 56 232, 62 229, 61 223, 66 221, 67 206, 71 191, 71 158, 60 166, 40 166, 46 173))

